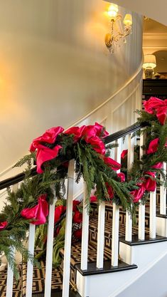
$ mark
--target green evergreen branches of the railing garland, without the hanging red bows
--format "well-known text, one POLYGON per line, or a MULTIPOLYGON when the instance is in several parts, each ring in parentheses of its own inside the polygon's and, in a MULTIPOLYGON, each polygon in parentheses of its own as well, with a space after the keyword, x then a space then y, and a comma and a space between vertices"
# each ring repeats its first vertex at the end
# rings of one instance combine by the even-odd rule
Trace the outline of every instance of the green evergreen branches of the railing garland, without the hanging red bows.
MULTIPOLYGON (((25 219, 21 212, 23 209, 31 209, 36 207, 38 203, 38 197, 46 194, 46 202, 51 204, 53 202, 53 188, 55 196, 60 201, 63 201, 65 197, 65 179, 68 178, 68 162, 75 159, 75 181, 80 182, 81 177, 85 180, 87 187, 87 206, 90 207, 90 194, 92 189, 96 189, 95 195, 97 201, 111 202, 109 197, 109 188, 112 189, 113 197, 112 202, 118 205, 122 205, 123 209, 126 209, 130 214, 134 214, 135 207, 139 202, 134 203, 134 197, 131 194, 132 191, 139 189, 139 183, 142 183, 144 179, 151 178, 147 173, 156 172, 156 182, 162 184, 158 179, 158 174, 162 174, 165 178, 162 169, 153 168, 158 162, 167 161, 167 150, 166 150, 166 138, 167 138, 167 125, 166 122, 161 125, 157 119, 156 111, 154 113, 147 113, 144 110, 136 111, 139 115, 138 123, 144 125, 144 130, 138 131, 135 135, 146 134, 146 142, 143 149, 147 150, 152 140, 158 138, 158 148, 153 154, 146 154, 139 160, 139 147, 136 146, 136 152, 134 157, 134 164, 131 170, 127 172, 126 162, 122 162, 122 172, 126 174, 126 182, 121 182, 117 172, 113 170, 112 166, 105 162, 105 157, 109 156, 109 150, 113 146, 108 145, 105 152, 100 152, 104 147, 104 136, 105 130, 99 124, 95 126, 87 126, 86 128, 94 129, 97 127, 97 135, 90 137, 87 140, 87 135, 81 135, 77 137, 75 133, 63 132, 63 128, 58 127, 60 132, 53 142, 45 141, 48 138, 38 137, 34 140, 35 149, 31 149, 31 154, 26 155, 23 159, 19 160, 16 166, 22 166, 27 164, 26 177, 21 183, 21 187, 16 192, 8 191, 7 203, 4 205, 4 209, 0 214, 1 222, 7 222, 4 229, 0 229, 0 253, 6 255, 9 265, 14 269, 16 273, 16 263, 13 255, 13 248, 20 251, 23 258, 31 259, 33 257, 28 253, 24 246, 26 240, 26 234, 28 226, 32 220, 25 219), (99 126, 102 127, 99 134, 99 126), (92 128, 93 127, 93 128, 92 128), (91 142, 93 140, 93 142, 91 142), (95 144, 94 144, 95 142, 95 144), (37 147, 36 147, 37 145, 37 147), (60 145, 60 147, 58 147, 60 145), (47 150, 53 153, 53 150, 58 148, 58 154, 55 152, 55 157, 50 157, 42 162, 41 174, 31 176, 31 169, 33 164, 36 162, 38 165, 38 157, 42 150, 47 150), (36 150, 37 148, 37 150, 36 150), (100 149, 100 150, 99 150, 100 149), (56 155, 57 154, 57 155, 56 155)), ((78 128, 81 130, 84 128, 78 128)), ((75 129, 74 128, 74 129, 75 129)), ((77 129, 77 130, 78 130, 77 129)), ((48 130, 50 132, 50 130, 48 130)), ((92 130, 91 130, 92 131, 92 130)), ((78 131, 77 131, 78 132, 78 131)), ((46 132, 44 133, 45 136, 46 132)), ((82 134, 82 133, 81 133, 82 134)), ((31 145, 32 147, 32 145, 31 145)), ((48 156, 48 155, 47 155, 48 156)), ((166 182, 166 181, 164 181, 166 182)), ((145 192, 141 197, 141 203, 146 202, 149 192, 145 192)), ((62 228, 65 226, 65 221, 62 221, 62 228)), ((46 224, 38 226, 36 230, 36 241, 42 242, 43 236, 45 235, 47 228, 46 224)), ((54 239, 54 251, 57 251, 63 246, 63 234, 58 234, 54 239)), ((41 244, 43 249, 43 245, 41 244)), ((58 259, 55 259, 57 261, 58 259)))

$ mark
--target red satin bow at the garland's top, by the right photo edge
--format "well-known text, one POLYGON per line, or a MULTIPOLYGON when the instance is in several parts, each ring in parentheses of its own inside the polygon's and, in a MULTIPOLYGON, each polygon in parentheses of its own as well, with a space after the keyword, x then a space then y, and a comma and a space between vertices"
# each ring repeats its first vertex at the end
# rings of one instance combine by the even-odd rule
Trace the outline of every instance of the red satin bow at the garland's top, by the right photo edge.
POLYGON ((144 101, 144 109, 147 113, 156 113, 159 122, 161 125, 164 125, 167 114, 167 99, 161 100, 156 97, 151 97, 148 101, 144 101))

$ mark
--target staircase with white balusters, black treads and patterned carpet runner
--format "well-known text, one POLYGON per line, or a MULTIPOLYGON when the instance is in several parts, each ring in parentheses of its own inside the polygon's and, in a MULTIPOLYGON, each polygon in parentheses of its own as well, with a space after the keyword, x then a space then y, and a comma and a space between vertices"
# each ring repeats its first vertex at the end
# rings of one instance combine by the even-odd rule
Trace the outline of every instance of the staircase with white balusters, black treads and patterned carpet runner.
MULTIPOLYGON (((115 159, 118 162, 123 137, 127 138, 128 147, 134 148, 134 139, 131 138, 131 134, 139 129, 139 125, 133 125, 107 137, 106 143, 119 142, 119 148, 115 148, 115 159)), ((129 152, 134 154, 134 150, 129 152)), ((71 174, 73 174, 72 163, 69 177, 71 174)), ((0 182, 0 189, 12 187, 21 180, 23 180, 23 174, 6 179, 0 182)), ((69 189, 73 187, 72 179, 68 180, 68 187, 69 189)), ((83 197, 85 199, 85 192, 83 197)), ((97 202, 93 202, 90 214, 83 208, 82 243, 73 242, 72 246, 68 244, 71 230, 68 227, 67 218, 65 249, 60 251, 62 257, 60 267, 51 269, 49 266, 52 249, 48 246, 46 259, 41 260, 41 268, 33 267, 31 263, 27 266, 26 263, 21 262, 19 266, 21 278, 18 282, 15 279, 13 282, 14 275, 11 269, 1 271, 0 296, 119 296, 119 293, 124 292, 125 288, 140 279, 148 269, 151 271, 153 261, 157 263, 158 259, 165 256, 167 216, 164 214, 164 208, 162 213, 161 204, 166 204, 166 195, 164 196, 163 191, 157 189, 156 193, 151 194, 150 201, 151 203, 147 202, 145 207, 139 206, 134 226, 132 226, 131 216, 124 212, 122 207, 104 202, 98 205, 97 202), (45 268, 47 265, 48 268, 45 268), (29 286, 31 282, 32 288, 29 286)), ((53 216, 54 204, 50 206, 50 221, 53 216)), ((48 226, 48 245, 53 236, 49 228, 53 228, 53 225, 48 226)), ((30 224, 29 238, 33 238, 34 231, 30 224)), ((33 251, 33 246, 33 241, 30 240, 29 251, 33 251)), ((151 296, 154 297, 153 294, 151 296)))

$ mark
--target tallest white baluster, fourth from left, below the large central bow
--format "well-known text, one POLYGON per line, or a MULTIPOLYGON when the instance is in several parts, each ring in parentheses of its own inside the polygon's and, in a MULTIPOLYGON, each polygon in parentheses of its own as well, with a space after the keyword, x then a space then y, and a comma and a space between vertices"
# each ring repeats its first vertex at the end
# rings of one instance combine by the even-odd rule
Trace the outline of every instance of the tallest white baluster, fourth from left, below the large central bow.
MULTIPOLYGON (((69 296, 70 288, 70 254, 72 237, 72 199, 74 187, 74 160, 70 161, 68 168, 68 198, 65 219, 65 256, 63 267, 63 297, 69 296)), ((48 296, 47 296, 48 297, 48 296)))

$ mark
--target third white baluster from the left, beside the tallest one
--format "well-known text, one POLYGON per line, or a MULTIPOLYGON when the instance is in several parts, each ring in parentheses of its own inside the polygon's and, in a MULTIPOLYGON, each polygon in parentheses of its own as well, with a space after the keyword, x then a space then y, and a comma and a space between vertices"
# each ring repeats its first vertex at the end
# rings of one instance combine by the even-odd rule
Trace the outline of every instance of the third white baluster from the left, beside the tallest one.
MULTIPOLYGON (((55 191, 54 191, 54 196, 55 196, 55 191)), ((45 295, 44 295, 45 297, 51 296, 54 219, 55 219, 55 197, 53 200, 53 204, 50 204, 50 207, 49 207, 48 234, 47 234, 46 261, 45 261, 45 295)))

